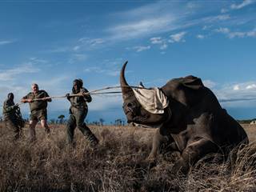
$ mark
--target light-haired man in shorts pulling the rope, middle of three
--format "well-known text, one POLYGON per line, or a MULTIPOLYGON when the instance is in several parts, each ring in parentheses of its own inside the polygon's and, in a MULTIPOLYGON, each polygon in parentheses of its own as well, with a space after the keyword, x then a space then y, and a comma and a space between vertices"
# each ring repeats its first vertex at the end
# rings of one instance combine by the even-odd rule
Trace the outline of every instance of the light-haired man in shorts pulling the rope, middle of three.
POLYGON ((50 128, 47 125, 47 102, 51 102, 49 94, 45 90, 39 90, 38 84, 33 83, 31 86, 32 92, 22 98, 21 102, 29 102, 30 104, 30 140, 33 142, 36 139, 35 126, 38 121, 45 128, 46 133, 50 133, 50 128))

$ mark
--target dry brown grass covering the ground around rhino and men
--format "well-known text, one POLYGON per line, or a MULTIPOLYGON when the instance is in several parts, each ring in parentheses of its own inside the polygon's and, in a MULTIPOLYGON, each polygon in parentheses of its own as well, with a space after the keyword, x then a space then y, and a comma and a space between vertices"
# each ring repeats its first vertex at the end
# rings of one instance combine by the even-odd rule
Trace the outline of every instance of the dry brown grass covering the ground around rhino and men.
POLYGON ((79 130, 76 148, 67 146, 65 126, 52 126, 50 137, 38 126, 38 141, 31 145, 26 137, 10 142, 0 125, 0 191, 256 191, 254 126, 246 127, 251 144, 236 161, 202 160, 187 177, 170 173, 173 154, 158 155, 153 168, 144 162, 154 130, 90 128, 101 140, 96 150, 79 130))

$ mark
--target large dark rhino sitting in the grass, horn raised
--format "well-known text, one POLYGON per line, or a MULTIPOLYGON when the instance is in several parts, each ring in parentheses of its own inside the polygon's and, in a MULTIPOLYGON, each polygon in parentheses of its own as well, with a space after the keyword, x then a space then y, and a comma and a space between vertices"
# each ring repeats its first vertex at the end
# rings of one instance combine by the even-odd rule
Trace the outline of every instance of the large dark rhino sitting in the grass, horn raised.
POLYGON ((159 88, 169 105, 162 114, 153 114, 142 107, 132 86, 126 82, 126 64, 120 72, 120 84, 127 122, 157 127, 147 160, 154 160, 162 142, 169 138, 170 151, 180 154, 172 171, 186 174, 190 166, 206 154, 220 151, 229 154, 235 146, 248 143, 246 131, 222 109, 214 93, 200 78, 192 75, 173 78, 159 88))

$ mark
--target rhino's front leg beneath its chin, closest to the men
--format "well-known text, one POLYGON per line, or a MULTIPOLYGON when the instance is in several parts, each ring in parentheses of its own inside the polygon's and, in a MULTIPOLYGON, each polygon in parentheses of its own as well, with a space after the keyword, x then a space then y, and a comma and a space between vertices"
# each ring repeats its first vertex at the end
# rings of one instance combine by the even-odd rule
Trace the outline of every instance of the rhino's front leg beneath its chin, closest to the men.
POLYGON ((152 143, 152 150, 150 152, 150 155, 148 158, 146 158, 148 161, 154 161, 155 158, 158 155, 158 151, 160 150, 160 147, 162 146, 162 143, 168 142, 169 148, 171 150, 175 150, 173 148, 176 148, 176 145, 174 141, 170 141, 170 138, 167 137, 167 135, 160 134, 160 130, 158 129, 156 133, 154 134, 153 143, 152 143), (171 144, 170 144, 171 142, 171 144))

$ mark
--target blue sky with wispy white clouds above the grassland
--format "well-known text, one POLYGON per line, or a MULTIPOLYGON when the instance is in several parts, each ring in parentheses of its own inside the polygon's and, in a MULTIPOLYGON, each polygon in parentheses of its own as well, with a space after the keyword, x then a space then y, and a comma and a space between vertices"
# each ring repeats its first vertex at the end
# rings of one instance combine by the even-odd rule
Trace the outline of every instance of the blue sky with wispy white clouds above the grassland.
MULTIPOLYGON (((2 1, 0 102, 15 102, 32 82, 52 96, 74 78, 88 90, 117 86, 129 61, 130 85, 163 86, 202 78, 234 118, 256 118, 256 1, 2 1)), ((125 118, 122 97, 94 96, 89 121, 125 118)), ((68 114, 65 99, 50 118, 68 114)), ((26 116, 28 105, 22 106, 26 116)))

